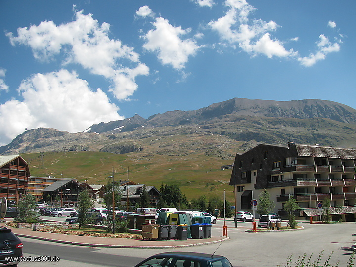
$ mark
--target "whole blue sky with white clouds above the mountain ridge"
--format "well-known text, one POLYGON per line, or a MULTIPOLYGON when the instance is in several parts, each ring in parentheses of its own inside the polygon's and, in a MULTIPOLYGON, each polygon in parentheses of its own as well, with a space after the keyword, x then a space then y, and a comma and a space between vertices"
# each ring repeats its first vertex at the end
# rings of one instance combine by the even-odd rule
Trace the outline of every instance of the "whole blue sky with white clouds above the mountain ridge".
POLYGON ((355 0, 0 1, 0 145, 234 97, 356 108, 355 0))

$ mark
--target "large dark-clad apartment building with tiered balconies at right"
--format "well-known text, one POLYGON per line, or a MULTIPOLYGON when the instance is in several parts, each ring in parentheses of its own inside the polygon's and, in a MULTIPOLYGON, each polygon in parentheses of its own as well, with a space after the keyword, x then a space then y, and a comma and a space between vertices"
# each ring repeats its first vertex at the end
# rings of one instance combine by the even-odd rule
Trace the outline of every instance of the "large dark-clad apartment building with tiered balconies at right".
POLYGON ((333 220, 355 221, 356 149, 302 145, 260 144, 236 154, 230 185, 235 187, 237 209, 251 209, 252 194, 258 199, 266 189, 283 216, 290 196, 301 209, 297 218, 317 218, 323 213, 325 198, 330 199, 333 220))

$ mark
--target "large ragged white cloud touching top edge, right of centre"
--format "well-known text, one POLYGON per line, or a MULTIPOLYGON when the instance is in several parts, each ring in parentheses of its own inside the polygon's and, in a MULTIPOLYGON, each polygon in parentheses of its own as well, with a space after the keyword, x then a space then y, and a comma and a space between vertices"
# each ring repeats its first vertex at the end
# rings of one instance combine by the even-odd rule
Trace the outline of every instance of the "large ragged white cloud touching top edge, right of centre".
POLYGON ((252 55, 264 54, 271 58, 289 57, 295 54, 293 49, 286 50, 278 39, 271 39, 269 31, 275 31, 278 27, 277 23, 248 19, 255 8, 245 0, 226 0, 225 5, 229 8, 225 15, 209 23, 223 41, 232 47, 238 44, 243 51, 252 55))

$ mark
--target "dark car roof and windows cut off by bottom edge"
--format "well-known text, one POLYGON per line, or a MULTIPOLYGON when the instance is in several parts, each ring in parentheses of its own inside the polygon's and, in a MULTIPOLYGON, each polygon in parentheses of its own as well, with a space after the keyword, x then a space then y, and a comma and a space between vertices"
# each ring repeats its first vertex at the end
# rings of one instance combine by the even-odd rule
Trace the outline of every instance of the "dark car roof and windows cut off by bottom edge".
POLYGON ((153 255, 134 267, 232 267, 224 256, 197 252, 164 252, 153 255))

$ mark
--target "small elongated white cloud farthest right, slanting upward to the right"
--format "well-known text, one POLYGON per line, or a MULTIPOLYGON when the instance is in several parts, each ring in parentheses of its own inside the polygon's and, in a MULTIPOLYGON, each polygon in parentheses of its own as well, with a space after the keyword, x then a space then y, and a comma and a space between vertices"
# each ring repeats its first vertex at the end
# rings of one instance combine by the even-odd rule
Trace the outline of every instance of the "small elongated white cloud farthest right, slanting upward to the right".
POLYGON ((338 43, 331 43, 325 35, 321 34, 319 39, 319 42, 316 43, 318 49, 315 53, 311 53, 308 57, 298 58, 298 61, 303 66, 310 67, 316 62, 325 59, 328 53, 340 50, 340 45, 338 43))

